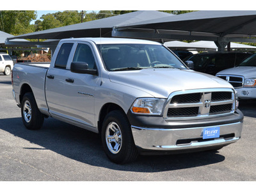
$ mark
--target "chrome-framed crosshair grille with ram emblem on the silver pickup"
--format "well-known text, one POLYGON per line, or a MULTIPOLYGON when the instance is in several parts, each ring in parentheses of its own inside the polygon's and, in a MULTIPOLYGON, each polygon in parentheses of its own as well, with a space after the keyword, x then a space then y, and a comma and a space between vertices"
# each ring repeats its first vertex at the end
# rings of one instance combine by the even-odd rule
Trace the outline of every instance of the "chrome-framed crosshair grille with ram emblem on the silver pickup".
POLYGON ((229 88, 173 92, 164 108, 164 118, 186 119, 234 113, 234 91, 229 88))

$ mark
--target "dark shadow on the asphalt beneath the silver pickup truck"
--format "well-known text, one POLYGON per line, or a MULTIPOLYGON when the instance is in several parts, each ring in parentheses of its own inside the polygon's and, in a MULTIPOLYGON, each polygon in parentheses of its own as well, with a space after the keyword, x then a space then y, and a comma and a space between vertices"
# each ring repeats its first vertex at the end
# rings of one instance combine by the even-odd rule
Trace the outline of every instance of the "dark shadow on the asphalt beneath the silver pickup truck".
MULTIPOLYGON (((53 118, 47 118, 42 129, 38 131, 27 130, 21 118, 1 119, 0 129, 70 159, 113 170, 164 172, 220 163, 225 160, 225 157, 218 152, 196 152, 168 156, 139 156, 134 163, 119 165, 108 160, 102 150, 98 134, 53 118)), ((24 150, 44 150, 44 148, 24 148, 24 150)))

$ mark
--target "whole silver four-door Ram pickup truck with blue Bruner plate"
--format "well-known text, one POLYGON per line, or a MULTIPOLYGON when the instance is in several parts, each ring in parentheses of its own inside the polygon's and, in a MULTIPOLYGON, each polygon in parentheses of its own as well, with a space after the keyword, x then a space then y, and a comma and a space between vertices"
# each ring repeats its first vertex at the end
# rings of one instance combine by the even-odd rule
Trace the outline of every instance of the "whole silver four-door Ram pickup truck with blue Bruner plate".
POLYGON ((17 63, 12 82, 28 129, 51 116, 97 132, 119 164, 138 154, 216 150, 241 138, 234 88, 190 70, 157 42, 64 39, 51 64, 17 63))

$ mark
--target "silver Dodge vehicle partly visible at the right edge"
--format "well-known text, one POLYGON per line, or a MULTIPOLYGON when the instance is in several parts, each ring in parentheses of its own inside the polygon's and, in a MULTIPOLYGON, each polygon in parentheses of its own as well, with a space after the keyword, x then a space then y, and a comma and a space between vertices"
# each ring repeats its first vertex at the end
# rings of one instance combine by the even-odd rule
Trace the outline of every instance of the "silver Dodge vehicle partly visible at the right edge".
POLYGON ((240 99, 256 99, 256 54, 237 67, 218 72, 216 76, 232 84, 240 99))

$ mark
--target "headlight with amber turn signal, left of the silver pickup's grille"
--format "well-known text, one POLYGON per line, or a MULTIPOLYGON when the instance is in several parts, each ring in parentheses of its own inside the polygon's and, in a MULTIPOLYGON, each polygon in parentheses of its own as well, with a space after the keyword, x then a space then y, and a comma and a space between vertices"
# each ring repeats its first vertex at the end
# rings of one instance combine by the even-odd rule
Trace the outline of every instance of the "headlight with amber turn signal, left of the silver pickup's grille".
POLYGON ((140 98, 132 104, 131 111, 136 114, 161 115, 166 99, 140 98))

